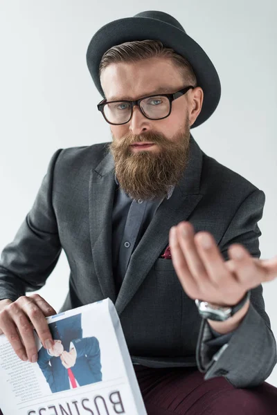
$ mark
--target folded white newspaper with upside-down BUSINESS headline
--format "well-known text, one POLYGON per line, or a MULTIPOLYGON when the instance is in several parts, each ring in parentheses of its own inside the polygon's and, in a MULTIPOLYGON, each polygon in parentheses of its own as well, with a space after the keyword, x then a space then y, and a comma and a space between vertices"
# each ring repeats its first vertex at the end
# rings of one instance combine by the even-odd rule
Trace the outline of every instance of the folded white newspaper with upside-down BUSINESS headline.
POLYGON ((0 335, 3 415, 146 415, 132 360, 109 298, 47 317, 55 340, 20 360, 0 335))

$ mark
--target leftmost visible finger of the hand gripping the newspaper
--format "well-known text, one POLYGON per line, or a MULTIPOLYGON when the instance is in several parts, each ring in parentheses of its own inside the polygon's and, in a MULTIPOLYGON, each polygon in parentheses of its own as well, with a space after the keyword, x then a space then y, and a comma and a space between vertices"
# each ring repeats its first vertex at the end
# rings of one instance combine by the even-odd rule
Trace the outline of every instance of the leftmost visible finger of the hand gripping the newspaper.
POLYGON ((10 342, 12 349, 14 349, 15 353, 17 353, 17 356, 21 360, 28 360, 26 349, 17 331, 17 326, 12 321, 12 318, 10 318, 8 309, 5 309, 1 312, 0 322, 2 331, 4 335, 6 335, 8 341, 10 342))

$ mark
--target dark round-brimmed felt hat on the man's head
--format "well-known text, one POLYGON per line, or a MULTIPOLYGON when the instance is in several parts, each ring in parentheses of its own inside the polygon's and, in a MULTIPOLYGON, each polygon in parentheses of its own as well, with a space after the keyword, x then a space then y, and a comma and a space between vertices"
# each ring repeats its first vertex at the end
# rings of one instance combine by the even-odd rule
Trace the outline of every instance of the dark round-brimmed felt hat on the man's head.
POLYGON ((190 62, 197 77, 197 86, 204 91, 202 110, 190 128, 208 120, 220 102, 220 78, 201 46, 186 34, 179 21, 165 12, 150 10, 111 21, 92 37, 87 48, 87 66, 102 98, 105 98, 99 77, 102 55, 112 46, 145 39, 160 40, 163 46, 174 49, 190 62))

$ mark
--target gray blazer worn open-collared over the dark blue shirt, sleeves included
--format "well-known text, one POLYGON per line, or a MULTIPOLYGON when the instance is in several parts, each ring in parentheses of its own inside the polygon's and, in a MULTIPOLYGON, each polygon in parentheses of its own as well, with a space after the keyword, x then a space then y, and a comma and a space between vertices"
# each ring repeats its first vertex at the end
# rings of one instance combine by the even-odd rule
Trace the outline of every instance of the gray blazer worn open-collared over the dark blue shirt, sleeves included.
POLYGON ((276 365, 276 341, 262 286, 228 344, 213 338, 195 301, 181 288, 168 246, 172 225, 190 221, 213 234, 224 259, 231 243, 260 257, 257 222, 265 194, 206 156, 191 136, 190 162, 170 199, 161 203, 129 261, 116 297, 111 266, 114 160, 107 143, 58 149, 26 219, 0 262, 0 298, 42 287, 62 248, 71 269, 62 310, 109 297, 120 317, 133 362, 149 367, 198 367, 205 380, 224 376, 234 387, 260 385, 276 365), (216 353, 215 353, 216 351, 216 353))

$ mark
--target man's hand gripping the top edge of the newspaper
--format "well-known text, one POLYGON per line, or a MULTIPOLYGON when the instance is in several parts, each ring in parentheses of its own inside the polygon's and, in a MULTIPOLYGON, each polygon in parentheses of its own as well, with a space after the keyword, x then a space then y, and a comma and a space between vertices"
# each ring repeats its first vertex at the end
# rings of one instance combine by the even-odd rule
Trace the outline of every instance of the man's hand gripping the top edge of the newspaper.
POLYGON ((37 362, 37 346, 34 331, 37 332, 45 349, 51 349, 53 338, 46 318, 57 314, 53 307, 39 294, 0 300, 0 334, 4 333, 21 360, 37 362))

